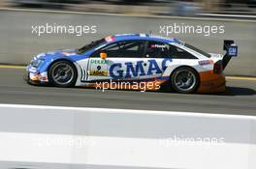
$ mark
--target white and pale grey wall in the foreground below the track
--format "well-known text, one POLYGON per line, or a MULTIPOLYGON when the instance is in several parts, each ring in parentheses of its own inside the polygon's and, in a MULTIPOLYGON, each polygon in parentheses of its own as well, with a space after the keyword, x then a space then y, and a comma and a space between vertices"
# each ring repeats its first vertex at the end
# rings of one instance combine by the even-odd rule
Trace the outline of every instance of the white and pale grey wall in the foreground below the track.
POLYGON ((7 168, 256 167, 255 117, 15 104, 0 104, 0 112, 7 168))

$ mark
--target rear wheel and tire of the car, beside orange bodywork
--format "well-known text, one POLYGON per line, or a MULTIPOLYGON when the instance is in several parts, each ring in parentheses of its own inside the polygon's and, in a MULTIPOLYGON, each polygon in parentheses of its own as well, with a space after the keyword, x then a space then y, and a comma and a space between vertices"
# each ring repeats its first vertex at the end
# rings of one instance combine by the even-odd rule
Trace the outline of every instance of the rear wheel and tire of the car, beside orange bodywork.
POLYGON ((177 93, 190 94, 197 91, 200 83, 198 72, 189 67, 177 68, 171 76, 172 88, 177 93))

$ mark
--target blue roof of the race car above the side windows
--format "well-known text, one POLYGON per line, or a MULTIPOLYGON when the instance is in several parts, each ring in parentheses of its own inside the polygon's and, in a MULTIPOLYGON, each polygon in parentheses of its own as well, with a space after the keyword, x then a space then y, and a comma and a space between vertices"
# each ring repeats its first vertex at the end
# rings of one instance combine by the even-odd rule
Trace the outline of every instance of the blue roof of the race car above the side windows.
POLYGON ((120 34, 112 36, 114 41, 129 41, 129 40, 144 40, 144 41, 157 41, 157 42, 176 42, 180 43, 174 38, 165 38, 151 34, 120 34))

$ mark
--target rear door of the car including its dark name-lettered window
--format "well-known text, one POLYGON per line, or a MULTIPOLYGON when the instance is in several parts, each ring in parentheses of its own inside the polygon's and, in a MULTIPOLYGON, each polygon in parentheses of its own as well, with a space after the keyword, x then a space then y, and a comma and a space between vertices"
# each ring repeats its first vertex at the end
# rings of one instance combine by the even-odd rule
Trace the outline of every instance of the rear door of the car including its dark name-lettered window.
POLYGON ((171 62, 172 55, 169 43, 146 42, 143 57, 146 75, 142 79, 161 77, 171 62))

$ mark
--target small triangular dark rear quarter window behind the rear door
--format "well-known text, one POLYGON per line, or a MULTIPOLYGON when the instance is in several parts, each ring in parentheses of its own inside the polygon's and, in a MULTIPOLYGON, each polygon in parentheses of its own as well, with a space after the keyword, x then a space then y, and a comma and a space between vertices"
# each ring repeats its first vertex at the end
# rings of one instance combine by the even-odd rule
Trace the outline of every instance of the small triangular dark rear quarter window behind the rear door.
POLYGON ((175 45, 170 45, 169 51, 174 59, 197 59, 197 57, 191 53, 183 50, 182 48, 176 47, 175 45))

